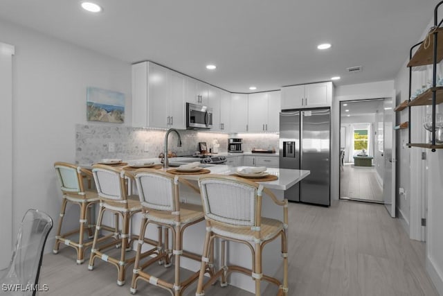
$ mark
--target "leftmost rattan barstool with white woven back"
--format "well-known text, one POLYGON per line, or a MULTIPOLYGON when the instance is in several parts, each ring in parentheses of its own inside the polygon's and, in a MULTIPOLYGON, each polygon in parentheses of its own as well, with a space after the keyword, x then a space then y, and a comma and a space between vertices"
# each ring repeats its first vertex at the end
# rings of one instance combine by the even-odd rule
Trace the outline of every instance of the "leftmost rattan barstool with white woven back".
POLYGON ((91 180, 93 178, 91 171, 67 162, 55 162, 54 168, 63 195, 53 253, 57 254, 60 250, 60 244, 64 243, 64 245, 73 247, 77 251, 77 263, 81 264, 84 262, 84 250, 92 245, 92 240, 84 242, 85 231, 88 232, 89 238, 93 238, 92 227, 94 225, 91 224, 93 223, 91 221, 91 207, 100 200, 97 191, 91 190, 91 180), (89 189, 84 188, 84 179, 89 182, 89 189), (78 228, 62 234, 62 224, 68 202, 79 205, 80 225, 78 228), (77 240, 72 237, 74 234, 78 234, 77 240))

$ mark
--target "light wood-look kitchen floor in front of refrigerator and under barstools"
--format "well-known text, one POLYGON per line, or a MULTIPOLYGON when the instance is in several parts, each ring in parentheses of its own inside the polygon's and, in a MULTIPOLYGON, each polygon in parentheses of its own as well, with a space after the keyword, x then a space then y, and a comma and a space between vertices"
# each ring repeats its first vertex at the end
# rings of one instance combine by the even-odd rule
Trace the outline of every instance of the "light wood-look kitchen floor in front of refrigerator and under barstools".
MULTIPOLYGON (((289 204, 291 296, 437 296, 425 272, 424 252, 424 243, 411 241, 381 204, 289 204)), ((172 277, 171 268, 158 268, 172 277)), ((93 271, 87 270, 87 263, 76 265, 74 252, 64 248, 44 256, 40 284, 48 284, 49 291, 39 295, 129 295, 131 272, 125 286, 117 286, 116 277, 116 268, 108 263, 96 261, 93 271)), ((170 295, 143 282, 138 288, 137 295, 170 295)), ((195 295, 195 285, 186 295, 195 295)), ((252 294, 216 285, 206 295, 252 294)), ((262 295, 275 295, 275 288, 262 295)))

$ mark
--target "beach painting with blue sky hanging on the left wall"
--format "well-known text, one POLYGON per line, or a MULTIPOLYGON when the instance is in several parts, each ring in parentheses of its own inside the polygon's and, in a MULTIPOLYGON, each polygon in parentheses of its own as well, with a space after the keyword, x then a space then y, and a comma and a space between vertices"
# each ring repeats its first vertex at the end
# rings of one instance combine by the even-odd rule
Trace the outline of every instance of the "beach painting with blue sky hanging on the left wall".
POLYGON ((124 123, 125 94, 87 87, 87 120, 124 123))

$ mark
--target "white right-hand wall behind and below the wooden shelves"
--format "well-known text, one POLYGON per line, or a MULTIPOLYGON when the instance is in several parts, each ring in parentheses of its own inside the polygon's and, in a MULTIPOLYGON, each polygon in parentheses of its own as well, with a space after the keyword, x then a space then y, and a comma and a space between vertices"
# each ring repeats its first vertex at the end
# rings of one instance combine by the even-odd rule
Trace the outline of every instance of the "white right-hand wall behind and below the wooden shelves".
MULTIPOLYGON (((424 28, 420 40, 424 39, 432 24, 433 21, 430 21, 428 26, 424 28)), ((395 78, 397 104, 407 100, 409 96, 409 70, 406 67, 408 60, 408 56, 406 56, 405 63, 395 78)), ((439 67, 440 73, 442 73, 442 64, 439 67)), ((426 71, 413 72, 412 94, 416 89, 425 85, 429 77, 429 71, 428 73, 426 71)), ((442 105, 437 106, 437 110, 442 112, 442 105)), ((422 118, 424 114, 430 112, 430 107, 411 108, 411 143, 426 142, 422 118)), ((408 121, 408 109, 397 112, 397 124, 404 121, 408 121)), ((424 238, 420 219, 426 217, 426 270, 440 295, 443 295, 443 151, 437 150, 433 153, 429 149, 406 148, 404 145, 406 143, 408 143, 408 130, 397 132, 397 159, 399 159, 397 184, 406 190, 406 195, 397 197, 399 212, 404 216, 400 216, 400 218, 404 221, 403 224, 410 234, 410 238, 420 240, 424 238), (426 161, 421 159, 422 153, 426 153, 426 161)))

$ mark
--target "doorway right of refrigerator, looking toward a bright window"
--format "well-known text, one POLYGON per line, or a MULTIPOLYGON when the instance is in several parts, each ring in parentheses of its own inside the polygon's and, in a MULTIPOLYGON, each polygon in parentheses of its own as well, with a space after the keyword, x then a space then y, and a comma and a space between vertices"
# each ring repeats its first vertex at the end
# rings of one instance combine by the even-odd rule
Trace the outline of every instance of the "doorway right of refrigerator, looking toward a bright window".
POLYGON ((384 103, 340 102, 340 199, 383 204, 384 103))

